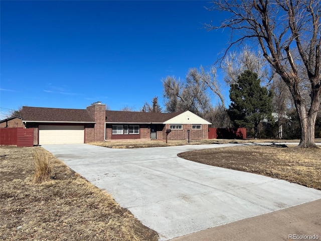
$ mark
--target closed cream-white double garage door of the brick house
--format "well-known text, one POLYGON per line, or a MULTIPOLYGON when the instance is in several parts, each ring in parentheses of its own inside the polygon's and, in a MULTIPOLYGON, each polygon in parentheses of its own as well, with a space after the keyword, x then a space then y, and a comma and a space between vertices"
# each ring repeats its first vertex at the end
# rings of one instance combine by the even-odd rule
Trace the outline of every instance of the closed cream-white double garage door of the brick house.
POLYGON ((39 144, 82 144, 84 126, 39 126, 39 144))

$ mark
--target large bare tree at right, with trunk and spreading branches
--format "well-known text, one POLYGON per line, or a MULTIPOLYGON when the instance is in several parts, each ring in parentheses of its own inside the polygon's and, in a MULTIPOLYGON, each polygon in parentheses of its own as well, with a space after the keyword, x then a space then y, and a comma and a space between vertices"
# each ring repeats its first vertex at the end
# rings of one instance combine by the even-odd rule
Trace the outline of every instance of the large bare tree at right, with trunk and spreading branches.
POLYGON ((301 125, 299 147, 315 147, 314 127, 321 98, 321 5, 315 0, 221 0, 210 10, 230 13, 220 26, 231 30, 231 46, 247 40, 286 83, 301 125), (297 54, 295 54, 297 53, 297 54), (302 67, 301 67, 302 66, 302 67), (300 92, 308 82, 309 100, 300 92))

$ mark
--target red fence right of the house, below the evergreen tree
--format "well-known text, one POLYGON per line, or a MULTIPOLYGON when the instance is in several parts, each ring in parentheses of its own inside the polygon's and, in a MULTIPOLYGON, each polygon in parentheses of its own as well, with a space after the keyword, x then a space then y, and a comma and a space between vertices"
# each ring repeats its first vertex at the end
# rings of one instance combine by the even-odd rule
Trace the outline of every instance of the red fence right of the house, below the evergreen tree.
POLYGON ((209 128, 209 139, 246 139, 246 128, 209 128))

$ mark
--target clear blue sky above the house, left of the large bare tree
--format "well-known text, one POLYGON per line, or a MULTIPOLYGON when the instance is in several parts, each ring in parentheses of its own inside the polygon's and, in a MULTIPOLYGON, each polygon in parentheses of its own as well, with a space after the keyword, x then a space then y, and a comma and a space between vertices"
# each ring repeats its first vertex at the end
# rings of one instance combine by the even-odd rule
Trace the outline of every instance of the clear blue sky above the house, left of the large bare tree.
POLYGON ((205 6, 1 1, 1 117, 23 105, 86 108, 95 101, 139 110, 154 96, 163 106, 162 79, 185 79, 226 48, 227 32, 204 28, 222 18, 205 6))

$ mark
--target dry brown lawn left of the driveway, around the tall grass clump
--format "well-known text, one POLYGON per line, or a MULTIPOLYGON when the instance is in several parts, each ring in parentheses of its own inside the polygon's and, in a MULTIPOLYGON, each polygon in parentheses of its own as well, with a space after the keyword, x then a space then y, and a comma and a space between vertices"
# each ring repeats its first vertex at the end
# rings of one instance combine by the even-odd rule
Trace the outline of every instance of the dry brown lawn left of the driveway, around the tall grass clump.
POLYGON ((50 153, 52 180, 34 184, 32 151, 47 152, 0 147, 0 240, 158 240, 155 231, 50 153))

